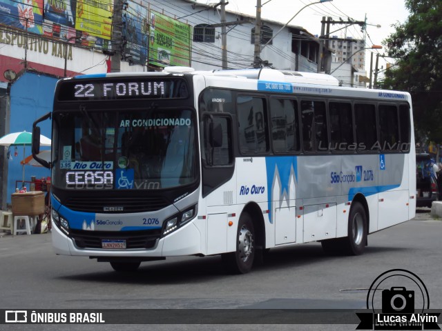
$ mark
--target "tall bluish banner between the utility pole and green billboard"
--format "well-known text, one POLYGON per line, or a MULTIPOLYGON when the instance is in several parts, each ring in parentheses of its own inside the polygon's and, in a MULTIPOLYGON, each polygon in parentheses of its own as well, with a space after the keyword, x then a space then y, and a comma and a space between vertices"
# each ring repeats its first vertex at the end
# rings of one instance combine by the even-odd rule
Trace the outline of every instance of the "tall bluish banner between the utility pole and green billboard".
POLYGON ((124 58, 146 65, 148 48, 148 9, 131 2, 123 14, 124 58))

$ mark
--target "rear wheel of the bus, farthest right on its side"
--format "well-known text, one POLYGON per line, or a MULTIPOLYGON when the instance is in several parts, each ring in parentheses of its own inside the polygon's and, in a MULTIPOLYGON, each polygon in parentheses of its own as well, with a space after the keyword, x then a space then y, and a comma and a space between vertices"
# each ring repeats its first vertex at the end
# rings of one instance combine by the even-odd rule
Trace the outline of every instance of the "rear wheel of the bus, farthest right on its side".
POLYGON ((347 255, 361 255, 365 243, 367 243, 367 214, 363 205, 355 202, 350 209, 348 235, 345 237, 343 252, 347 255))

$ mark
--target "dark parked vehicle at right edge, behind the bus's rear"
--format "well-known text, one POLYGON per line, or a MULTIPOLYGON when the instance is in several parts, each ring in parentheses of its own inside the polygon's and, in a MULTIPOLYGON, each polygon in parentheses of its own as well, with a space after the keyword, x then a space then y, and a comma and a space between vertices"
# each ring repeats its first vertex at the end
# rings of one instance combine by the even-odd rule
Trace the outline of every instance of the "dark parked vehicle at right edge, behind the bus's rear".
MULTIPOLYGON (((439 200, 438 180, 432 168, 434 161, 427 153, 416 154, 416 207, 430 207, 439 200)), ((440 175, 442 179, 442 175, 440 175)))

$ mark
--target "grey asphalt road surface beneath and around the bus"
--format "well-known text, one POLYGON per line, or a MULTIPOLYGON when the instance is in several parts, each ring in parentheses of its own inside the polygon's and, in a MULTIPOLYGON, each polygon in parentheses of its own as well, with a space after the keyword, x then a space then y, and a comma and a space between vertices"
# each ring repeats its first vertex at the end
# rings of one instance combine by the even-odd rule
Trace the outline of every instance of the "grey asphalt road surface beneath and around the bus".
MULTIPOLYGON (((271 250, 264 265, 245 275, 226 274, 220 257, 145 262, 137 272, 122 274, 108 263, 55 255, 50 234, 0 233, 0 309, 365 309, 376 277, 405 269, 425 283, 430 308, 440 310, 442 220, 428 211, 370 235, 362 256, 330 257, 320 243, 303 244, 271 250)), ((270 328, 354 330, 356 325, 0 325, 0 330, 270 328)))

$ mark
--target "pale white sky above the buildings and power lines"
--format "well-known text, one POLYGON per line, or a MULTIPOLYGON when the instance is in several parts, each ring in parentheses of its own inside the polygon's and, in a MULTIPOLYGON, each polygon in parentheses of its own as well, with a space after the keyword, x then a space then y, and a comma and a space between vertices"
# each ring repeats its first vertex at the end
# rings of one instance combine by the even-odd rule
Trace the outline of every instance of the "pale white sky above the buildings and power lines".
MULTIPOLYGON (((226 9, 233 12, 241 12, 256 16, 256 0, 226 0, 229 4, 226 9)), ((315 0, 261 0, 262 11, 261 17, 287 23, 302 7, 308 3, 316 2, 315 0)), ((198 0, 200 3, 218 3, 217 0, 198 0)), ((394 28, 392 24, 404 23, 409 15, 405 8, 405 0, 333 0, 332 2, 318 3, 303 9, 293 21, 290 22, 294 26, 302 26, 311 34, 320 34, 322 17, 332 17, 334 20, 347 20, 347 17, 355 21, 364 21, 367 15, 367 47, 372 45, 382 45, 383 39, 387 38, 394 28), (381 28, 376 28, 381 25, 381 28)), ((341 25, 330 27, 330 32, 343 28, 341 25)), ((338 37, 353 37, 355 39, 363 39, 363 33, 358 25, 340 30, 332 35, 338 37)), ((379 50, 381 54, 385 52, 379 50)), ((365 69, 369 70, 369 51, 366 53, 365 69)), ((394 63, 394 59, 387 59, 390 63, 394 63)), ((385 68, 385 61, 380 58, 379 68, 385 68)))

